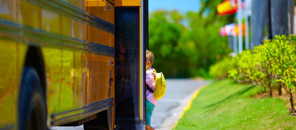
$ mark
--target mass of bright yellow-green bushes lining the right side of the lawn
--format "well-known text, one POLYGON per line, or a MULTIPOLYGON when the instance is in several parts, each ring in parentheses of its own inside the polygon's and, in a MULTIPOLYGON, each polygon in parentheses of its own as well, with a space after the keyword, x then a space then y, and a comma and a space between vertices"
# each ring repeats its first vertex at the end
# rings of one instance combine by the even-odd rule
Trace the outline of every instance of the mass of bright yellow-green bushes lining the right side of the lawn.
MULTIPOLYGON (((290 94, 292 113, 295 113, 292 93, 296 93, 296 37, 276 35, 253 52, 244 50, 234 57, 234 68, 228 71, 229 78, 240 83, 251 83, 261 92, 272 96, 272 89, 281 88, 290 94)), ((221 63, 222 64, 222 63, 221 63)))

